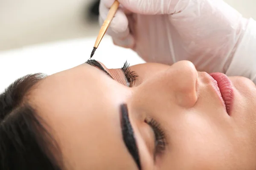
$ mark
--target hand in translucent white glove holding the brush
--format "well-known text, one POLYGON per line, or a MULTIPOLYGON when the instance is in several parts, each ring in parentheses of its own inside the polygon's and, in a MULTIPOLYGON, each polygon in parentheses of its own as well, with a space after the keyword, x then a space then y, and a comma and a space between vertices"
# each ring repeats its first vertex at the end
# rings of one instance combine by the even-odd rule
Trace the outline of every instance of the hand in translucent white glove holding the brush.
MULTIPOLYGON (((101 0, 99 23, 114 0, 101 0)), ((107 34, 146 62, 190 60, 198 71, 227 71, 248 20, 223 0, 119 0, 107 34)))

